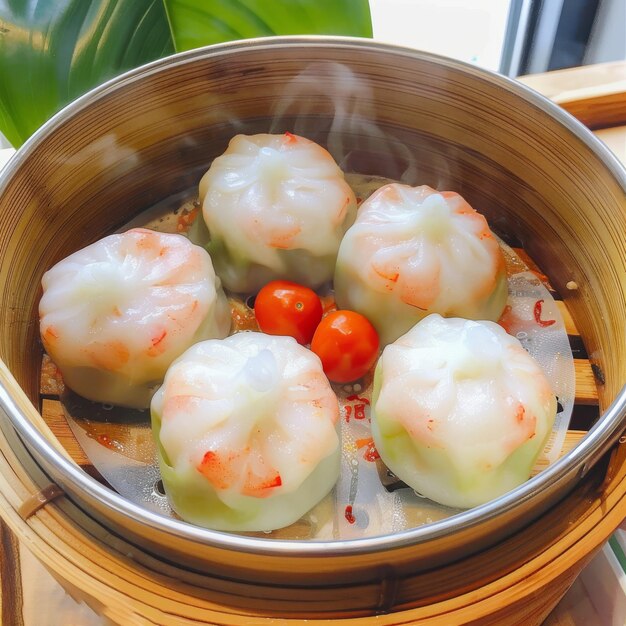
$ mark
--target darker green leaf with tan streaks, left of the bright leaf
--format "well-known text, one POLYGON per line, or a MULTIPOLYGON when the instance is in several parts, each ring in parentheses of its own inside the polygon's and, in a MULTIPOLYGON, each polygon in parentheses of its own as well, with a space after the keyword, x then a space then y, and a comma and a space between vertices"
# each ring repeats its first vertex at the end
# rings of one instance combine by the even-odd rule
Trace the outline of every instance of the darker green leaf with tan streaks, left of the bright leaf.
POLYGON ((17 147, 92 87, 173 52, 160 0, 0 0, 0 130, 17 147))

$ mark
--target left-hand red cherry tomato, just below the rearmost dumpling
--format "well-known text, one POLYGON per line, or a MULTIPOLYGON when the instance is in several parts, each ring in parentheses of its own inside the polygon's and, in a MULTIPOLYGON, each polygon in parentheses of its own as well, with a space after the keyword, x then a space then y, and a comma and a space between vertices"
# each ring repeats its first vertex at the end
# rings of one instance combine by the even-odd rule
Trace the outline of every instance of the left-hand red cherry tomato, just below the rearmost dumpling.
POLYGON ((274 280, 257 294, 254 314, 264 333, 287 335, 304 345, 311 341, 322 319, 322 303, 308 287, 274 280))

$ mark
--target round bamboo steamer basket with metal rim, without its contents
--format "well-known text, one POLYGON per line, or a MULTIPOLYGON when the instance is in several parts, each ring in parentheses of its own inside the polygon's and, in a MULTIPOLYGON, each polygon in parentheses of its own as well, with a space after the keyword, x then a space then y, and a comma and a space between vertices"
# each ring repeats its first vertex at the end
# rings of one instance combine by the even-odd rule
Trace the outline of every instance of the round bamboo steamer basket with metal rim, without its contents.
POLYGON ((611 154, 541 96, 370 41, 213 46, 94 90, 0 178, 5 523, 121 624, 539 623, 626 513, 625 190, 611 154), (40 412, 43 272, 197 184, 234 134, 285 130, 340 152, 347 169, 459 191, 547 274, 601 382, 598 419, 556 464, 449 520, 325 543, 195 528, 76 464, 40 412))

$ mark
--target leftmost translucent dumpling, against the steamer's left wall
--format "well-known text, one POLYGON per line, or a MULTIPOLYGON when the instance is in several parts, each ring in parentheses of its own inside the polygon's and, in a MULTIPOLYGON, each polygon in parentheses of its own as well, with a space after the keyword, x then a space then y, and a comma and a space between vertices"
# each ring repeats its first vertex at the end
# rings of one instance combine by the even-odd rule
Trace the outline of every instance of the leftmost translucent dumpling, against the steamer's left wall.
POLYGON ((44 348, 65 384, 97 402, 147 408, 174 359, 230 330, 211 258, 182 235, 110 235, 57 263, 42 285, 44 348))

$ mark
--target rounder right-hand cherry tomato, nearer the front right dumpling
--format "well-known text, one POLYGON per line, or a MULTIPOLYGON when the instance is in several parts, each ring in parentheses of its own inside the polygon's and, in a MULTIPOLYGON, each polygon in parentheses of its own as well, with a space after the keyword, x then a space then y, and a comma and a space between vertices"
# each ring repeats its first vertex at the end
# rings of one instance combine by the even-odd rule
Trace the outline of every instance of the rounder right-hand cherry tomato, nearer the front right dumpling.
POLYGON ((335 383, 361 378, 376 362, 378 333, 366 317, 354 311, 329 313, 319 324, 311 350, 335 383))

